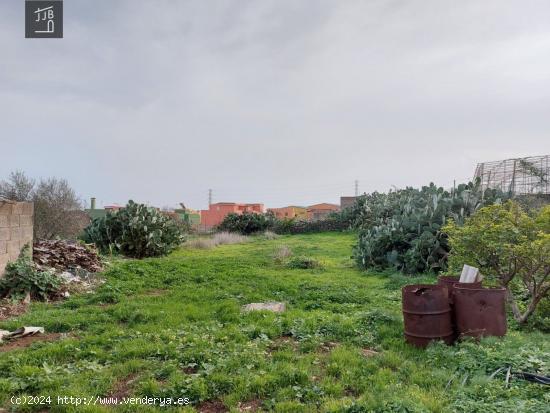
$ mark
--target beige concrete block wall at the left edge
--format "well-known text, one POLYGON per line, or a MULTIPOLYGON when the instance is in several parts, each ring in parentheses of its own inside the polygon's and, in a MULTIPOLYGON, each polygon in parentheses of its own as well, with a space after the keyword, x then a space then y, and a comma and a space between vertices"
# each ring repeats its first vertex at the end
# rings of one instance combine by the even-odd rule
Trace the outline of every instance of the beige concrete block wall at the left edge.
POLYGON ((32 202, 0 199, 0 277, 8 262, 17 259, 25 244, 32 246, 33 216, 32 202))

